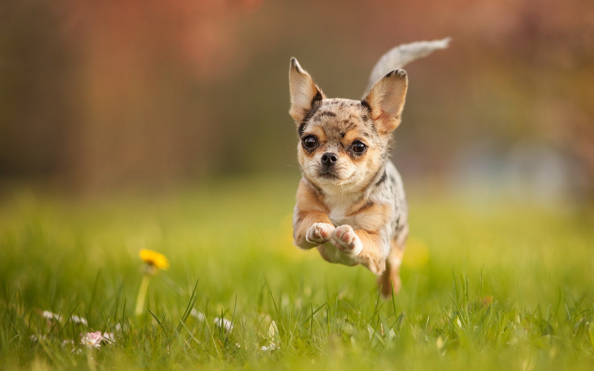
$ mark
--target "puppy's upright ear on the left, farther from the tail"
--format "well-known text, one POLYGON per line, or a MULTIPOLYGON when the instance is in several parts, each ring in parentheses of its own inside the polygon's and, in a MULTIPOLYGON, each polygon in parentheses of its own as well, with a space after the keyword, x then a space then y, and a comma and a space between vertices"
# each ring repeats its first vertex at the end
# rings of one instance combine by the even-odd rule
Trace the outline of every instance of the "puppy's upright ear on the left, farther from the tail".
POLYGON ((297 59, 291 58, 289 66, 289 89, 291 109, 289 114, 300 124, 311 107, 326 98, 311 76, 303 69, 297 59))

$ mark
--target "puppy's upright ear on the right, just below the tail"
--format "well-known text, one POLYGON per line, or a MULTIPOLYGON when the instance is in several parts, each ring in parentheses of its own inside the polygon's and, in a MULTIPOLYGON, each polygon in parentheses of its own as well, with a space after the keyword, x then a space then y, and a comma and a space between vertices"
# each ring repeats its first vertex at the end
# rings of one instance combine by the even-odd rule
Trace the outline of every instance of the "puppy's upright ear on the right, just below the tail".
POLYGON ((371 117, 380 133, 390 134, 400 125, 407 87, 406 71, 395 69, 375 83, 363 99, 371 109, 371 117))

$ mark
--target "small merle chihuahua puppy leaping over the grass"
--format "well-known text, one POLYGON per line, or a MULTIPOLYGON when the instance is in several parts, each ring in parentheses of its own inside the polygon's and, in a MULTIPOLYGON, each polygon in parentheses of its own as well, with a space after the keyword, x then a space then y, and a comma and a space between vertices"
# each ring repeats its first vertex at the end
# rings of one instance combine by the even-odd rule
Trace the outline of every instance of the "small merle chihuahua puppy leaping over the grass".
POLYGON ((390 161, 391 133, 400 124, 408 79, 402 66, 445 49, 449 39, 394 47, 374 66, 363 99, 324 96, 291 58, 290 115, 299 134, 302 179, 293 238, 329 262, 361 264, 384 297, 400 290, 408 235, 405 191, 390 161))

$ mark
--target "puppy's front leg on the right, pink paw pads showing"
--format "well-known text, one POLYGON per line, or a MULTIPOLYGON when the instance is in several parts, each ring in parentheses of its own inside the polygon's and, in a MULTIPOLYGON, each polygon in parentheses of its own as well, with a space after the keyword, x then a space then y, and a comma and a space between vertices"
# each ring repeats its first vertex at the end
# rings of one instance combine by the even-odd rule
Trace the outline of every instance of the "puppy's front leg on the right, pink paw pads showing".
POLYGON ((331 241, 337 249, 349 255, 374 274, 380 275, 386 269, 386 258, 390 245, 377 232, 353 228, 347 224, 336 227, 331 241))

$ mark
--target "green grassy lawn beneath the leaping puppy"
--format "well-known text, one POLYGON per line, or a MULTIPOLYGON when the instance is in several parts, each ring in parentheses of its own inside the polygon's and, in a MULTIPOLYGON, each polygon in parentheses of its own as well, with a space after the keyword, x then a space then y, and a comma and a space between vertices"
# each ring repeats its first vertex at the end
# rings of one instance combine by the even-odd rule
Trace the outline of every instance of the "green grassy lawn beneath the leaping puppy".
POLYGON ((384 301, 364 268, 292 246, 295 186, 5 197, 0 367, 594 369, 592 215, 409 192, 403 290, 384 301), (170 268, 135 316, 143 248, 170 268), (88 349, 81 334, 91 331, 113 341, 88 349))

